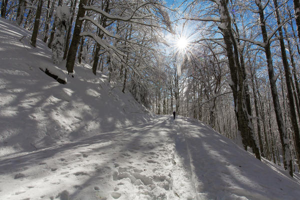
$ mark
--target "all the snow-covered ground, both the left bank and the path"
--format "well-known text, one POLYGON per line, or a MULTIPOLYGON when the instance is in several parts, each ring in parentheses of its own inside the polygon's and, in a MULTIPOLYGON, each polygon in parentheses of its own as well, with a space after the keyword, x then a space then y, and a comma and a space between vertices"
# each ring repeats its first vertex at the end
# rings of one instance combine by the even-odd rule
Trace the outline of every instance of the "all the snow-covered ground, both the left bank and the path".
POLYGON ((1 199, 298 199, 299 173, 198 120, 147 112, 86 63, 66 76, 41 40, 0 28, 1 199))

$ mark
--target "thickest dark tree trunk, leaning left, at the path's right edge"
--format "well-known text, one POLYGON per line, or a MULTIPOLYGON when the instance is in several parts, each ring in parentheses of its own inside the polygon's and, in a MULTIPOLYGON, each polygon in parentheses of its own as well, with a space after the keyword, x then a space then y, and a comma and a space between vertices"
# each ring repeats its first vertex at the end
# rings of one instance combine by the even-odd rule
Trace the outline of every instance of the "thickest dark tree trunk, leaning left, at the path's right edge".
POLYGON ((238 130, 241 133, 244 149, 247 150, 247 146, 249 145, 252 148, 255 157, 260 160, 259 149, 254 140, 251 120, 248 117, 250 116, 250 113, 247 111, 247 102, 245 101, 245 80, 239 61, 240 56, 238 56, 236 37, 232 32, 231 17, 227 7, 227 1, 220 0, 218 5, 221 23, 226 24, 224 28, 219 27, 219 29, 223 33, 231 80, 233 82, 233 84, 230 84, 230 87, 234 98, 238 130))

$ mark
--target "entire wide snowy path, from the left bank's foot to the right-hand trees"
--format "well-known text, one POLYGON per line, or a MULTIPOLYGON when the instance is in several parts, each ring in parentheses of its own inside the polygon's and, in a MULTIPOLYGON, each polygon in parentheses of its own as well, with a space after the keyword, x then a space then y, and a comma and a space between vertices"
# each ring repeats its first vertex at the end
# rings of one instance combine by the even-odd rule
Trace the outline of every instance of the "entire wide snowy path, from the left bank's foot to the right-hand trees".
POLYGON ((299 177, 197 120, 161 116, 0 158, 0 199, 299 199, 299 177))

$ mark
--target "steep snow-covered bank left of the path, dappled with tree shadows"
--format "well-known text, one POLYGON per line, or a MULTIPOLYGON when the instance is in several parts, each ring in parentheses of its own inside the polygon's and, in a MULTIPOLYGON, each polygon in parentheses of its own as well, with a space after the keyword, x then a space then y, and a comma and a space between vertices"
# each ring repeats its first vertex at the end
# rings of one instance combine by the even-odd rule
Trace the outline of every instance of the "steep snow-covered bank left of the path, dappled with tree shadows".
POLYGON ((150 117, 129 92, 111 87, 90 66, 75 66, 75 77, 54 66, 40 39, 0 18, 0 155, 40 149, 143 123, 150 117), (55 71, 59 84, 39 67, 55 71))

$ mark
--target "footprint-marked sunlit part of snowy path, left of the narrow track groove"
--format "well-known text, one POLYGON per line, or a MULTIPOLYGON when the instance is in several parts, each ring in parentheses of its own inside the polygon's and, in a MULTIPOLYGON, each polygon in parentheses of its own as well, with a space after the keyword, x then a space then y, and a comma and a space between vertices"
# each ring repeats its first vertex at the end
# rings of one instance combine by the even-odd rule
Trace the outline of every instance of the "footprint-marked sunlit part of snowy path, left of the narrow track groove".
POLYGON ((1 199, 194 199, 177 126, 164 116, 2 159, 1 199))

